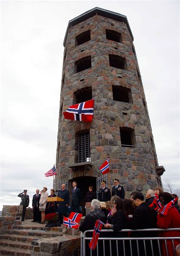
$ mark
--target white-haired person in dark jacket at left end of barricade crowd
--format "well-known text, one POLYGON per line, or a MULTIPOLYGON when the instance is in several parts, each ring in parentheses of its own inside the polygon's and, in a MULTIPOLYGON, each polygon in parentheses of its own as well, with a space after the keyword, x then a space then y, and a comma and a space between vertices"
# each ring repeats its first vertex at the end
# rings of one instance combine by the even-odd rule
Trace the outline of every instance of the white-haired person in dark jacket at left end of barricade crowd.
POLYGON ((97 199, 93 199, 91 202, 92 211, 87 214, 84 218, 84 221, 79 226, 79 230, 82 232, 90 229, 94 229, 96 221, 99 219, 100 221, 106 222, 106 217, 100 209, 100 202, 97 199))

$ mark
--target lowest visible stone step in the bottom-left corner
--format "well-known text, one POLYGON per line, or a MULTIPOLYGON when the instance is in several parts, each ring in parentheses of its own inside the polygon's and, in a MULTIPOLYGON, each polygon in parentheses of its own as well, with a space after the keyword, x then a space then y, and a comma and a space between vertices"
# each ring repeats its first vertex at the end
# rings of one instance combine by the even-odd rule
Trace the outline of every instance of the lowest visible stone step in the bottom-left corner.
POLYGON ((0 255, 30 256, 31 251, 20 250, 19 248, 11 248, 8 246, 0 246, 0 255))

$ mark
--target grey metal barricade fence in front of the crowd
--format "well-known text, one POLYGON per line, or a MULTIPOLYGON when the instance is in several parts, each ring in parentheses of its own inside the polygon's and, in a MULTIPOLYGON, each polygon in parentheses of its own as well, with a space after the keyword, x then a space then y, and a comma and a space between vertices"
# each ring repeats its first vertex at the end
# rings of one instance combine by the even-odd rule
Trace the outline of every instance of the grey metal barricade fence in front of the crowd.
MULTIPOLYGON (((179 228, 174 228, 174 229, 138 229, 138 230, 132 230, 132 229, 123 229, 121 231, 119 231, 118 233, 122 233, 123 232, 166 232, 166 231, 179 231, 179 228)), ((112 252, 112 241, 115 241, 115 250, 116 250, 116 254, 117 256, 147 256, 147 255, 152 255, 152 256, 165 256, 162 253, 162 243, 164 241, 163 246, 164 250, 166 250, 166 255, 170 256, 169 252, 168 252, 168 245, 167 245, 167 241, 171 241, 172 246, 173 246, 173 251, 174 251, 174 256, 176 256, 176 252, 175 252, 175 245, 174 245, 174 240, 179 240, 180 242, 180 236, 178 237, 102 237, 103 233, 104 236, 106 233, 111 233, 113 234, 113 230, 108 229, 108 230, 101 230, 101 237, 98 238, 98 243, 96 246, 95 250, 90 250, 90 248, 88 247, 88 243, 92 240, 92 233, 93 230, 87 230, 84 233, 81 233, 81 256, 115 256, 114 252, 112 252), (87 233, 91 232, 91 237, 87 237, 87 233), (87 241, 87 243, 86 243, 87 241), (101 242, 102 241, 102 242, 101 242), (122 241, 122 242, 120 242, 122 241), (141 242, 143 241, 143 243, 141 242), (149 242, 148 242, 149 241, 149 242), (127 246, 127 242, 129 242, 128 246, 127 246), (100 245, 101 243, 101 245, 100 245), (118 248, 118 243, 121 243, 122 245, 122 251, 119 251, 118 248), (139 243, 141 244, 139 246, 139 243), (148 243, 148 246, 147 246, 148 243), (143 248, 142 248, 143 245, 143 248), (98 248, 99 247, 99 248, 98 248), (129 248, 130 247, 130 248, 129 248), (140 247, 140 248, 139 248, 140 247), (156 247, 156 248, 155 248, 156 247), (136 252, 134 253, 133 249, 136 249, 136 252), (99 252, 100 249, 100 252, 99 252), (143 250, 143 253, 142 253, 143 250), (151 250, 151 251, 149 251, 151 250)), ((136 233, 137 234, 137 233, 136 233)), ((133 235, 132 235, 133 236, 133 235)), ((172 254, 171 254, 172 256, 172 254)))

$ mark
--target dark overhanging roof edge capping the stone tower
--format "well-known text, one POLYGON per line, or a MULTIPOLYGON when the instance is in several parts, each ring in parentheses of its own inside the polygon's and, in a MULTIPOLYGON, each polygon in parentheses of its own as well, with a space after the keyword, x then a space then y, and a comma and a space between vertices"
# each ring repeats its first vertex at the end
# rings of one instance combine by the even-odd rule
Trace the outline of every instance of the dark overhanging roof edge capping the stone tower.
POLYGON ((106 18, 114 19, 115 21, 120 21, 120 22, 125 23, 128 27, 128 30, 129 30, 129 33, 131 35, 132 40, 134 40, 133 34, 131 32, 131 29, 130 29, 130 26, 129 26, 129 23, 128 23, 128 19, 125 15, 122 15, 122 14, 119 14, 119 13, 114 13, 114 11, 108 11, 108 10, 105 10, 105 9, 101 9, 99 7, 95 7, 93 9, 89 10, 89 11, 86 11, 85 13, 82 13, 81 15, 79 15, 76 18, 71 19, 69 21, 68 27, 66 29, 66 34, 65 34, 65 39, 64 39, 63 45, 65 46, 69 27, 73 27, 76 24, 78 24, 82 21, 85 21, 88 18, 91 18, 91 17, 95 16, 96 14, 101 15, 101 16, 106 17, 106 18))

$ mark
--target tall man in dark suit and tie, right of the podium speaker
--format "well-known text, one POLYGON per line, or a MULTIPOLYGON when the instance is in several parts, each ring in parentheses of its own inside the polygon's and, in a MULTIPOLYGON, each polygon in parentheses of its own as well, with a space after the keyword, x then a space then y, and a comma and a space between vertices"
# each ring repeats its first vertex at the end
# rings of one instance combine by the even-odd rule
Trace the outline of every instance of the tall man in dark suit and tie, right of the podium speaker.
POLYGON ((71 190, 71 212, 80 213, 79 203, 81 200, 81 190, 76 186, 77 182, 73 181, 73 189, 71 190))

